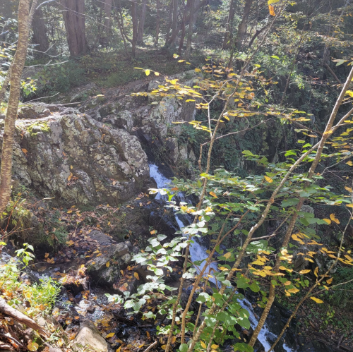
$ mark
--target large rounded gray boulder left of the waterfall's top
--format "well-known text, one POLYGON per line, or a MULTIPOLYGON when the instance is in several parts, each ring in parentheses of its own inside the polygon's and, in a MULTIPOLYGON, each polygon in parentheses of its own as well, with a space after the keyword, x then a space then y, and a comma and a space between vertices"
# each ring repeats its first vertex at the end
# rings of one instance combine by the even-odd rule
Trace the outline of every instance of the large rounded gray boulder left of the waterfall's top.
POLYGON ((138 138, 75 109, 44 108, 23 109, 16 123, 13 174, 21 184, 66 205, 117 205, 143 188, 149 168, 138 138))

